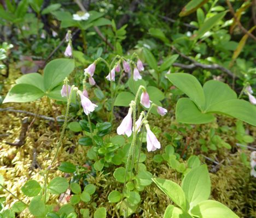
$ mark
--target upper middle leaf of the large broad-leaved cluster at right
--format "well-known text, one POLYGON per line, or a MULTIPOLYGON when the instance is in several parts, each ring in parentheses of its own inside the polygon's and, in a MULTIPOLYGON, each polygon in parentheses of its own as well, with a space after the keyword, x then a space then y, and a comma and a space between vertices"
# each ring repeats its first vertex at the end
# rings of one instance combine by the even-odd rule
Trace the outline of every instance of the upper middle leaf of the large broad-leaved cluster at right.
POLYGON ((237 95, 228 84, 217 80, 210 80, 203 84, 205 93, 205 111, 208 107, 226 100, 237 99, 237 95))

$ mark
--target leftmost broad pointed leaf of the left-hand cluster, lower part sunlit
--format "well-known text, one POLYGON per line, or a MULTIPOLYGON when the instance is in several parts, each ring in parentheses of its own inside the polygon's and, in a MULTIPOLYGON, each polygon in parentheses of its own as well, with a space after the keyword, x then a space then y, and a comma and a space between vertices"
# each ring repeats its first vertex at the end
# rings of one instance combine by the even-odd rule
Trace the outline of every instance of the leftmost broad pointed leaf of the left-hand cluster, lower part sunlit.
POLYGON ((9 90, 3 103, 29 102, 42 98, 44 95, 45 93, 41 89, 30 84, 16 84, 9 90))

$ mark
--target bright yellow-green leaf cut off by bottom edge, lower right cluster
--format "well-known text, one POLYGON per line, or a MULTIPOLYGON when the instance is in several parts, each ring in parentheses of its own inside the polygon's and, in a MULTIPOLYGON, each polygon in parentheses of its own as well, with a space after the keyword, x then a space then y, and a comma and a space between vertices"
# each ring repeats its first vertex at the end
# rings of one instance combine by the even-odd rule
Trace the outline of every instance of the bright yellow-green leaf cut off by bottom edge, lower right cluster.
POLYGON ((217 201, 203 201, 191 209, 191 214, 199 218, 239 218, 232 210, 217 201))

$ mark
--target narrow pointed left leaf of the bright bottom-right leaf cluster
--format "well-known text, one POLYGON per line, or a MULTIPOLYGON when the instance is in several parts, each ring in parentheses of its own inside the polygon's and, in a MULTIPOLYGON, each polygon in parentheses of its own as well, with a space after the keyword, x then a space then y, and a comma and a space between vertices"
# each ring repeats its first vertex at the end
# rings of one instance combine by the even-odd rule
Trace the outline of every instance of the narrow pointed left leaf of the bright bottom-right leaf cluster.
POLYGON ((171 180, 153 178, 154 183, 166 193, 171 200, 183 210, 186 210, 186 198, 182 188, 171 180))

